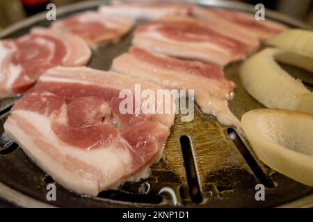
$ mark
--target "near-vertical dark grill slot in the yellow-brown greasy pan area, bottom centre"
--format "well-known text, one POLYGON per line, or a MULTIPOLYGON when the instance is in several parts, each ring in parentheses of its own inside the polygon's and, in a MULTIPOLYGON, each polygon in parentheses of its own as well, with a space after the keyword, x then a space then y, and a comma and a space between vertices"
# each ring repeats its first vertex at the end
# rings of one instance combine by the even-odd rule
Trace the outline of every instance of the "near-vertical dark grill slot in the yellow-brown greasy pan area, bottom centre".
POLYGON ((193 159, 191 141, 188 136, 183 135, 180 137, 180 146, 182 147, 182 153, 184 157, 184 166, 188 180, 189 195, 191 196, 193 203, 201 203, 203 199, 200 191, 198 176, 195 171, 195 162, 193 159))

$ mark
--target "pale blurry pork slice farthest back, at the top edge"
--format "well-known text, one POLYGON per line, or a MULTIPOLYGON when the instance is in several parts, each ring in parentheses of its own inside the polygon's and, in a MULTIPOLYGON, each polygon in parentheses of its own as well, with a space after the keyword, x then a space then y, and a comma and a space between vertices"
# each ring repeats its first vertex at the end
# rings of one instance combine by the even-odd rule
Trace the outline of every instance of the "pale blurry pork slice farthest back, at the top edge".
POLYGON ((189 15, 191 5, 164 1, 113 1, 111 5, 100 6, 99 12, 106 16, 154 20, 166 15, 189 15))

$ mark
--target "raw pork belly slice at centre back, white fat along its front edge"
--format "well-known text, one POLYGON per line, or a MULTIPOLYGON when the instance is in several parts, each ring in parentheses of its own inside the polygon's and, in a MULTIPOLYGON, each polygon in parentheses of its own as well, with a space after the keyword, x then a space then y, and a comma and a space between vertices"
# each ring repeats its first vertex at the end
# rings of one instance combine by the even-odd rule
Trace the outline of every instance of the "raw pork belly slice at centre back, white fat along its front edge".
POLYGON ((191 17, 164 17, 138 26, 133 44, 168 56, 226 65, 251 51, 241 41, 191 17))

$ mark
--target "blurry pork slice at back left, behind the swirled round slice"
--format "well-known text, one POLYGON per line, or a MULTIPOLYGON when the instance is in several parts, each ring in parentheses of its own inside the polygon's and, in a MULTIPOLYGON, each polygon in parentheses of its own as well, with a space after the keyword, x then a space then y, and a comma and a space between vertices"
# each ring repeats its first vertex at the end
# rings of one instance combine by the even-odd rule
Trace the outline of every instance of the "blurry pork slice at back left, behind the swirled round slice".
POLYGON ((104 15, 99 12, 81 12, 58 19, 51 28, 79 35, 92 48, 99 44, 117 42, 134 26, 133 19, 104 15))

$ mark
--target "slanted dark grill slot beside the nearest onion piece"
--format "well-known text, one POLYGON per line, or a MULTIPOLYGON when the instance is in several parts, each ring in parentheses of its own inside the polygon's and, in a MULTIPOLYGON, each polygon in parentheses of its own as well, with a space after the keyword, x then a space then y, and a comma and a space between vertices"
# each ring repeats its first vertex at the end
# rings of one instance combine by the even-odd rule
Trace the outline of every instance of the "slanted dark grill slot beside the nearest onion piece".
POLYGON ((266 173, 264 173, 264 171, 262 171, 262 168, 259 167, 257 161, 255 161, 255 159, 252 157, 250 151, 243 143, 238 133, 236 133, 236 130, 234 130, 233 128, 228 128, 227 133, 230 136, 230 139, 232 139, 232 142, 234 142, 234 144, 236 145, 236 148, 238 148, 239 152, 248 163, 252 172, 255 173, 255 176, 257 177, 259 182, 261 182, 265 187, 274 187, 273 181, 266 175, 266 173))

